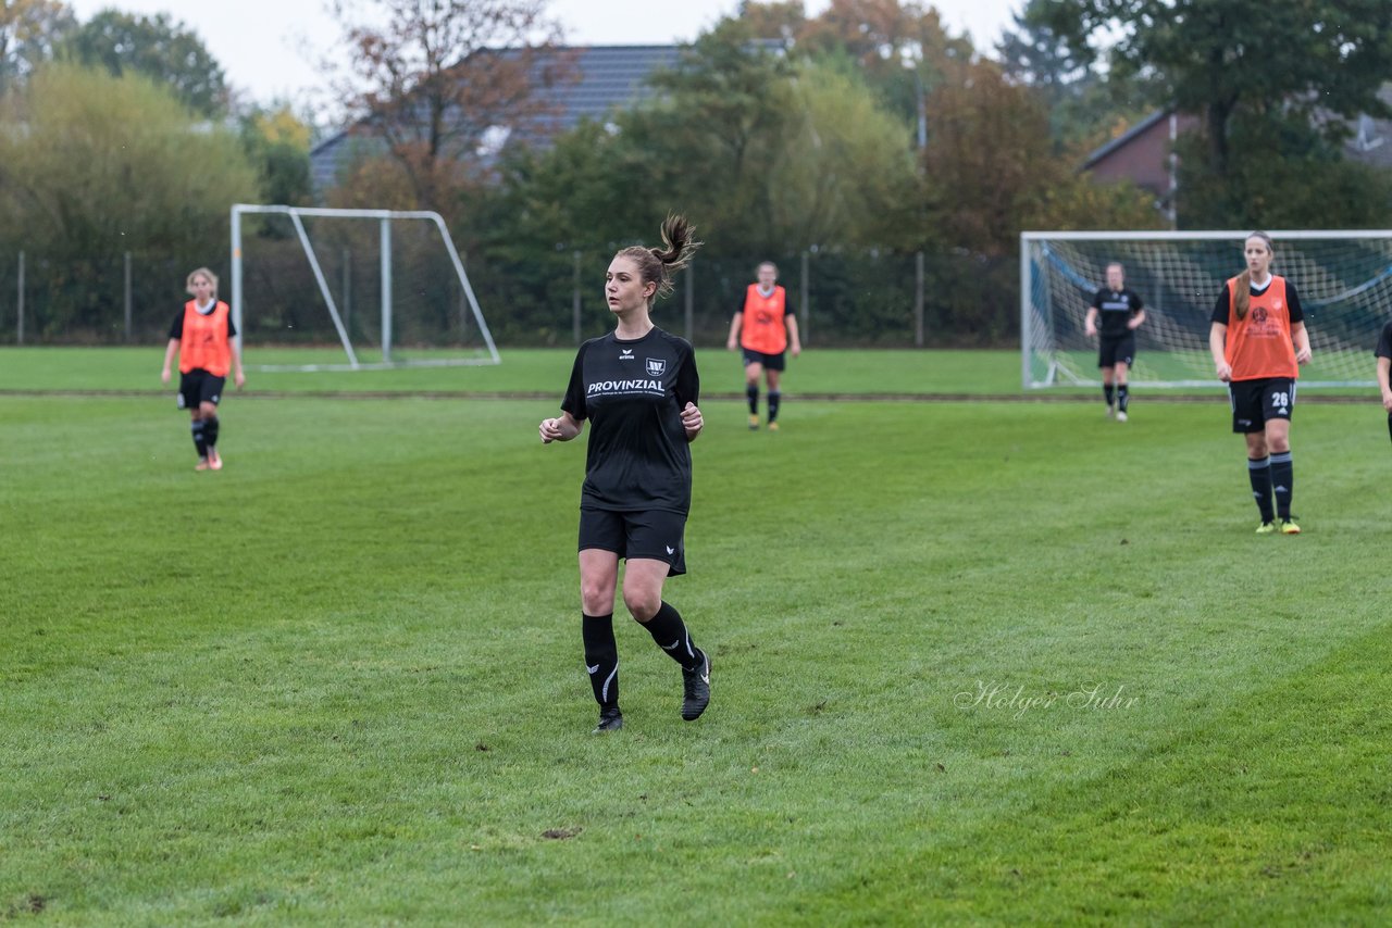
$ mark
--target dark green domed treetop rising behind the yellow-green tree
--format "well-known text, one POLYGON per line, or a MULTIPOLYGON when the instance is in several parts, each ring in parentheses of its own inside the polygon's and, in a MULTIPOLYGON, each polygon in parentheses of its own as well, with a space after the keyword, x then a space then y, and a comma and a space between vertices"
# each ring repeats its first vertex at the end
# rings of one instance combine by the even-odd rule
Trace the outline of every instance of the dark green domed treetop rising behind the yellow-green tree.
POLYGON ((160 13, 153 17, 103 10, 78 26, 63 53, 111 77, 143 74, 200 115, 227 110, 223 65, 198 33, 160 13))

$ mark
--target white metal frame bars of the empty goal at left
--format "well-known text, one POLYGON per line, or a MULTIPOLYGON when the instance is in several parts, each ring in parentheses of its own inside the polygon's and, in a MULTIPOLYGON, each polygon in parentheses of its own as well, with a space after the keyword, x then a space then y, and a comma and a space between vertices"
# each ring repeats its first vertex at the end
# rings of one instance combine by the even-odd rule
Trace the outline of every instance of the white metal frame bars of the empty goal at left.
POLYGON ((338 339, 342 344, 344 353, 348 356, 347 365, 290 365, 290 366, 271 366, 262 367, 262 370, 367 370, 367 369, 384 369, 395 367, 397 363, 393 362, 393 257, 391 257, 391 223, 394 220, 425 220, 433 223, 436 230, 440 232, 440 241, 444 245, 445 252, 450 256, 450 263, 454 267, 454 273, 458 277, 459 287, 468 301, 469 310, 473 316, 473 321, 477 326, 483 345, 487 349, 489 358, 486 360, 479 359, 433 359, 433 360, 412 360, 411 365, 415 366, 447 366, 447 365, 472 365, 472 363, 491 363, 497 365, 501 362, 498 356, 498 348, 493 342, 493 334, 489 331, 489 323, 483 319, 483 310, 479 307, 479 301, 473 294, 473 285, 469 284, 469 275, 464 270, 464 260, 459 257, 459 252, 454 246, 454 239, 450 238, 450 230, 444 224, 444 218, 430 210, 352 210, 352 209, 327 209, 327 207, 301 207, 301 206, 264 206, 256 203, 234 203, 231 210, 231 313, 232 323, 237 326, 237 341, 241 345, 241 333, 245 331, 244 314, 245 314, 245 287, 242 281, 242 216, 245 214, 278 214, 287 216, 291 225, 295 230, 295 235, 299 239, 299 245, 305 252, 305 260, 309 263, 313 271, 315 284, 319 289, 319 295, 323 296, 324 306, 329 310, 329 316, 333 320, 334 330, 338 334, 338 339), (381 363, 363 363, 358 359, 358 352, 354 349, 352 339, 348 334, 348 327, 344 324, 344 319, 338 312, 338 305, 334 302, 333 292, 330 291, 329 281, 324 277, 323 267, 319 263, 319 257, 315 253, 315 248, 309 241, 309 234, 305 230, 305 217, 323 217, 323 218, 367 218, 379 221, 379 262, 380 262, 380 278, 381 278, 381 363))

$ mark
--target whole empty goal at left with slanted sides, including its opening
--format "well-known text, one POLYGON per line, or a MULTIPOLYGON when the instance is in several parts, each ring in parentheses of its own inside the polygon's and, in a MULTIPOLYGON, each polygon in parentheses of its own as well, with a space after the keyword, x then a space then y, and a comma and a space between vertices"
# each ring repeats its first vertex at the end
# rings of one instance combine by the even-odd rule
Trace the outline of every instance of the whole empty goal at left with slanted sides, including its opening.
POLYGON ((256 370, 497 365, 438 213, 238 203, 231 312, 256 370), (255 362, 255 363, 253 363, 255 362))

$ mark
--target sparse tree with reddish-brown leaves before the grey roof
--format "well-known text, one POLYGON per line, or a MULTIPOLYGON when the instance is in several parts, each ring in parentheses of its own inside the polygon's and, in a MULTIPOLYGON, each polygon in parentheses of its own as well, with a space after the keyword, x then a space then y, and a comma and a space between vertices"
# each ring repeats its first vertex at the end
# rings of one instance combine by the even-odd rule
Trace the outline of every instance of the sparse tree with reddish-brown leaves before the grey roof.
POLYGON ((331 10, 352 56, 337 89, 354 131, 380 139, 418 207, 452 214, 497 146, 548 114, 535 88, 568 74, 544 0, 334 0, 331 10))

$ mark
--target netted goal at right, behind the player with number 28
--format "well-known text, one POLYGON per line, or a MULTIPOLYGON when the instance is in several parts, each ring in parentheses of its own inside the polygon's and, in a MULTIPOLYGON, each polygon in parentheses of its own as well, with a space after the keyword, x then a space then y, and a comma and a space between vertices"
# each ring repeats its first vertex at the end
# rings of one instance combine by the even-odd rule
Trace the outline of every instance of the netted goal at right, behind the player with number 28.
MULTIPOLYGON (((1119 262, 1146 306, 1130 383, 1217 385, 1210 317, 1244 267, 1247 232, 1023 232, 1020 351, 1026 390, 1097 385, 1097 339, 1083 334, 1093 295, 1119 262)), ((1375 384, 1373 349, 1392 317, 1392 231, 1271 232, 1271 271, 1300 294, 1314 360, 1300 387, 1375 384)))

